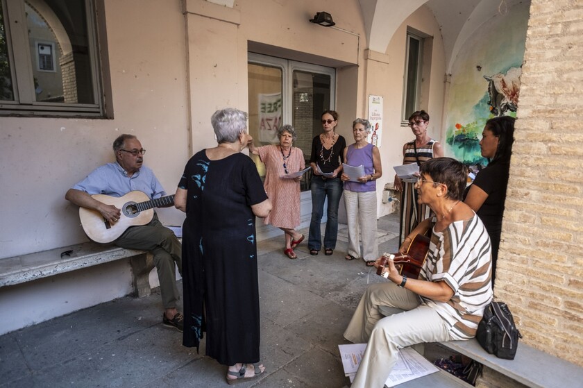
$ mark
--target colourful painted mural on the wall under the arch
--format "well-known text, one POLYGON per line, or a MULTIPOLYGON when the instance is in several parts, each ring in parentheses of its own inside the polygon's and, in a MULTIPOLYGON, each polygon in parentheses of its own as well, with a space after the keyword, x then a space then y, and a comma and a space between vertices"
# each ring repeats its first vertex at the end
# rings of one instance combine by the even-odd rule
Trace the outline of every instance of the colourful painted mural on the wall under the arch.
POLYGON ((446 154, 468 166, 483 167, 480 153, 484 124, 492 117, 516 117, 520 95, 528 6, 484 22, 464 43, 464 56, 452 71, 446 154))

